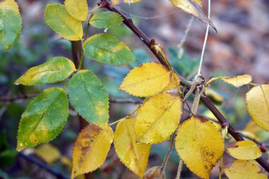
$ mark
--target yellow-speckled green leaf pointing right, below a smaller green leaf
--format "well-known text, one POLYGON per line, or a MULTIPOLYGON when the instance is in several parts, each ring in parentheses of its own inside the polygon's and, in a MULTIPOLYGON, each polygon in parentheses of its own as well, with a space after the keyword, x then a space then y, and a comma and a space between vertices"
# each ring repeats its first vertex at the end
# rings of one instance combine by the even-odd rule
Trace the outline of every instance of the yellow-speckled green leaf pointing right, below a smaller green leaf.
POLYGON ((117 37, 107 33, 89 37, 83 46, 86 54, 98 62, 122 65, 135 61, 130 49, 117 37))

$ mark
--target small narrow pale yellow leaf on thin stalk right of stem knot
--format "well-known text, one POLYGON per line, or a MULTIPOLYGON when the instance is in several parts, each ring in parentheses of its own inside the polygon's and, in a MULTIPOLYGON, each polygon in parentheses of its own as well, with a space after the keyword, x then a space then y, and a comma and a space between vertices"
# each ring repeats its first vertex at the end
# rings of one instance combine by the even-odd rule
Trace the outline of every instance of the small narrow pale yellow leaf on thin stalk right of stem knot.
POLYGON ((244 86, 248 83, 251 83, 252 77, 249 74, 244 74, 240 76, 224 76, 220 78, 222 81, 230 83, 231 85, 239 88, 240 86, 244 86))

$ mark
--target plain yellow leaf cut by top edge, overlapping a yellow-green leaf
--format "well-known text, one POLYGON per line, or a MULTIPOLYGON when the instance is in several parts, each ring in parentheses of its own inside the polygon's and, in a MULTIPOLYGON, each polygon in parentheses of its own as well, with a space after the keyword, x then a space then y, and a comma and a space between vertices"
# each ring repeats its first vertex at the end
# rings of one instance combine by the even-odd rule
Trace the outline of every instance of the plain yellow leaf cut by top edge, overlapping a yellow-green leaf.
POLYGON ((86 0, 65 0, 64 6, 71 16, 79 21, 86 21, 88 4, 86 0))

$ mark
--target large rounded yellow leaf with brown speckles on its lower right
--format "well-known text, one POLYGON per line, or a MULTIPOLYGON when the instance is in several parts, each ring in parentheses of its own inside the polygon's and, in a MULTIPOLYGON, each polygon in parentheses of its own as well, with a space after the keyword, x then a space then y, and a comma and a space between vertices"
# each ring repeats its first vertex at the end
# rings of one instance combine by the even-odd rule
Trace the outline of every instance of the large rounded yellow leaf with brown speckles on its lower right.
POLYGON ((178 128, 176 151, 190 171, 209 178, 224 151, 221 134, 205 117, 193 115, 178 128))

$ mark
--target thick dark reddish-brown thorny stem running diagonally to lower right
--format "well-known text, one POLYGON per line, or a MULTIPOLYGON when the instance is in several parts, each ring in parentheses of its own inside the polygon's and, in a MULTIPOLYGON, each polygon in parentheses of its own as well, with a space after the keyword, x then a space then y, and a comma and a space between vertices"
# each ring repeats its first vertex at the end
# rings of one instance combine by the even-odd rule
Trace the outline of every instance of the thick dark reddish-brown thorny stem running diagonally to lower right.
MULTIPOLYGON (((147 47, 149 47, 149 50, 151 50, 151 52, 156 56, 156 58, 159 60, 159 62, 161 64, 164 64, 164 66, 167 67, 167 64, 164 60, 164 57, 162 57, 161 54, 156 53, 156 50, 151 47, 152 42, 151 42, 151 40, 149 40, 149 37, 147 37, 147 35, 145 35, 139 28, 137 28, 137 26, 134 23, 132 23, 132 19, 127 18, 124 14, 122 14, 120 11, 118 11, 117 8, 110 6, 111 4, 110 4, 110 1, 108 1, 108 0, 101 0, 101 3, 99 3, 99 5, 100 4, 102 4, 109 11, 113 11, 115 13, 120 14, 120 16, 122 16, 122 18, 124 19, 123 23, 125 23, 125 25, 127 25, 127 27, 130 28, 130 30, 132 30, 132 32, 135 33, 142 40, 142 42, 144 42, 145 45, 147 45, 147 47)), ((177 74, 177 75, 181 78, 181 84, 183 86, 185 86, 187 88, 191 87, 190 81, 187 81, 179 74, 177 74)), ((203 103, 205 103, 207 108, 214 114, 214 116, 217 118, 217 120, 219 120, 220 124, 227 123, 227 120, 225 119, 225 117, 222 115, 221 112, 219 112, 219 110, 216 108, 216 106, 214 106, 214 104, 205 95, 205 93, 202 94, 201 100, 203 103)), ((243 141, 244 140, 243 137, 241 136, 241 134, 239 132, 236 132, 236 130, 231 125, 229 125, 228 132, 229 132, 229 134, 231 134, 232 137, 234 137, 234 139, 236 139, 236 141, 243 141)), ((267 161, 265 161, 264 158, 260 157, 260 158, 256 159, 256 161, 261 166, 263 166, 263 168, 265 168, 266 171, 269 172, 269 163, 267 161)))

